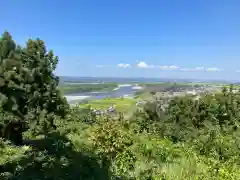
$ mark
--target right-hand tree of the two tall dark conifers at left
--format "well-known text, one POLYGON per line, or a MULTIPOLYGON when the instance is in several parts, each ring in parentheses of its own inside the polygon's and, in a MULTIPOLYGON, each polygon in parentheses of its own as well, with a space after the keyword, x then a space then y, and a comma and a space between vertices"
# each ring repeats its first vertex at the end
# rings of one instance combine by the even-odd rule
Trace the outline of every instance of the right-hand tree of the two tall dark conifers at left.
POLYGON ((40 40, 29 40, 22 51, 23 66, 31 72, 32 80, 26 83, 28 104, 35 115, 45 110, 47 114, 60 116, 68 109, 65 98, 58 90, 58 77, 54 75, 58 57, 53 51, 47 52, 45 43, 40 40))

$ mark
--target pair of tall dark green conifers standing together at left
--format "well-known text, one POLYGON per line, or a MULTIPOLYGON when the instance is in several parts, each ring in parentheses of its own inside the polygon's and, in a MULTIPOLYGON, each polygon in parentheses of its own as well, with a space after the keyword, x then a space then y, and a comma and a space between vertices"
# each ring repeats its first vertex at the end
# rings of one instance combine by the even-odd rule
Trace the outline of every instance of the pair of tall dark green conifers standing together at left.
POLYGON ((42 40, 30 39, 20 47, 4 32, 0 39, 0 122, 4 138, 13 140, 16 129, 19 135, 29 125, 39 125, 42 115, 46 127, 54 126, 54 115, 66 115, 68 105, 54 75, 57 63, 58 57, 53 51, 47 52, 42 40))

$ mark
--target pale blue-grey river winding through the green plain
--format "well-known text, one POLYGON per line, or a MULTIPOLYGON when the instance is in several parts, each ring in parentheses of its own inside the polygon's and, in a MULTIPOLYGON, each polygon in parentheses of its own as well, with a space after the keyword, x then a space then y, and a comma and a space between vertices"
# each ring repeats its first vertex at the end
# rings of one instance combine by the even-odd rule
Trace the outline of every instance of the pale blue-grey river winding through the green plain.
POLYGON ((72 94, 65 95, 65 97, 67 98, 70 104, 73 104, 73 103, 80 102, 82 100, 97 100, 97 99, 103 99, 106 97, 109 97, 109 98, 131 97, 140 89, 142 89, 142 87, 140 86, 133 86, 131 84, 122 84, 122 85, 119 85, 118 88, 115 88, 114 90, 111 90, 111 91, 72 93, 72 94))

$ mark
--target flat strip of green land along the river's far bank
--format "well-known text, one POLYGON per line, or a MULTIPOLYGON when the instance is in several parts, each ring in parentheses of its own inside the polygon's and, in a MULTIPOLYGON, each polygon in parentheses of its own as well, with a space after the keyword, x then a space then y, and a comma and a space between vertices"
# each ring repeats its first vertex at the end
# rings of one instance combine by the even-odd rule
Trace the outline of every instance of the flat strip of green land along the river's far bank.
POLYGON ((100 84, 64 84, 60 86, 61 91, 64 94, 92 92, 99 90, 113 90, 117 88, 116 83, 100 83, 100 84))

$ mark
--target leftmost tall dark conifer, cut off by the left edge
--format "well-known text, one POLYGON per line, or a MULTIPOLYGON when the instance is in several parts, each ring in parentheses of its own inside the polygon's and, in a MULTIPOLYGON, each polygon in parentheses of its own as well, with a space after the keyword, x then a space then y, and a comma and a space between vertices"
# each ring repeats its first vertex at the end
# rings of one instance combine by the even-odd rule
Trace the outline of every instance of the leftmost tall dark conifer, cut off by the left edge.
POLYGON ((22 139, 20 134, 24 130, 24 115, 27 113, 23 87, 27 74, 27 70, 21 66, 19 47, 11 35, 4 32, 0 39, 0 108, 3 111, 0 119, 1 134, 10 140, 19 136, 17 140, 14 138, 18 144, 22 139))

